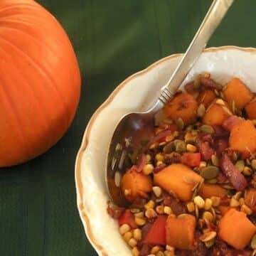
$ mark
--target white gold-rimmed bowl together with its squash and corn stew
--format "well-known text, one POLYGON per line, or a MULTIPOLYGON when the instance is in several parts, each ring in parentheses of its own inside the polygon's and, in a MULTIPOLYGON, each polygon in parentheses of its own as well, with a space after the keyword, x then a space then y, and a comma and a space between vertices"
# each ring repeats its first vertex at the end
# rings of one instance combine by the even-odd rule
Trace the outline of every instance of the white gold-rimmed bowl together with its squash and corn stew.
POLYGON ((129 144, 111 202, 107 148, 123 114, 147 110, 181 54, 124 80, 93 114, 75 164, 78 210, 99 255, 256 253, 256 51, 208 48, 154 127, 129 144), (102 136, 103 135, 103 136, 102 136))

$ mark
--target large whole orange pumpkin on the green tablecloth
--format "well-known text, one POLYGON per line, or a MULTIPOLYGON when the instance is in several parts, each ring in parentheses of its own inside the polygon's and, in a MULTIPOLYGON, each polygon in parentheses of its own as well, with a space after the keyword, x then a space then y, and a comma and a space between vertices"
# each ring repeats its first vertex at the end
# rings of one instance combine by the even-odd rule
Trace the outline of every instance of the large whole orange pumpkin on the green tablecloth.
POLYGON ((0 1, 0 167, 43 154, 80 98, 80 70, 60 23, 32 0, 0 1))

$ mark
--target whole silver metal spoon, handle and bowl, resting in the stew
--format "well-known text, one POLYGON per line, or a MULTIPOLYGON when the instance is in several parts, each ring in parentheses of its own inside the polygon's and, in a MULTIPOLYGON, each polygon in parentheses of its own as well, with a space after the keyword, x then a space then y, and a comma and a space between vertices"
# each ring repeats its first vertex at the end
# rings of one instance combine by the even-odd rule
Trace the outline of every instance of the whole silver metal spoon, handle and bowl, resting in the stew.
POLYGON ((206 47, 210 36, 220 24, 226 12, 233 4, 233 0, 214 0, 199 27, 196 36, 183 55, 178 67, 171 75, 171 78, 164 87, 161 88, 156 104, 146 112, 134 112, 125 114, 117 124, 112 136, 107 155, 106 182, 112 201, 118 206, 126 206, 127 201, 121 191, 120 181, 122 174, 126 171, 125 161, 127 159, 127 148, 139 130, 144 127, 153 127, 154 115, 176 93, 189 70, 196 63, 206 47))

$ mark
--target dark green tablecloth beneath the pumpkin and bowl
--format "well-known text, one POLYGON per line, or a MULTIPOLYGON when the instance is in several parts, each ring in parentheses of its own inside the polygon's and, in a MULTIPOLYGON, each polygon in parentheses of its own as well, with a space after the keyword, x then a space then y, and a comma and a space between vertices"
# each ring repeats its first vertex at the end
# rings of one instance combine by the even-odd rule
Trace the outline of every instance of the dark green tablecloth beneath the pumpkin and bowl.
MULTIPOLYGON (((73 42, 82 94, 58 144, 27 164, 0 170, 0 255, 97 255, 85 237, 75 196, 75 156, 87 122, 127 76, 184 52, 210 0, 39 2, 73 42)), ((236 0, 209 46, 255 47, 255 10, 255 0, 236 0)))

